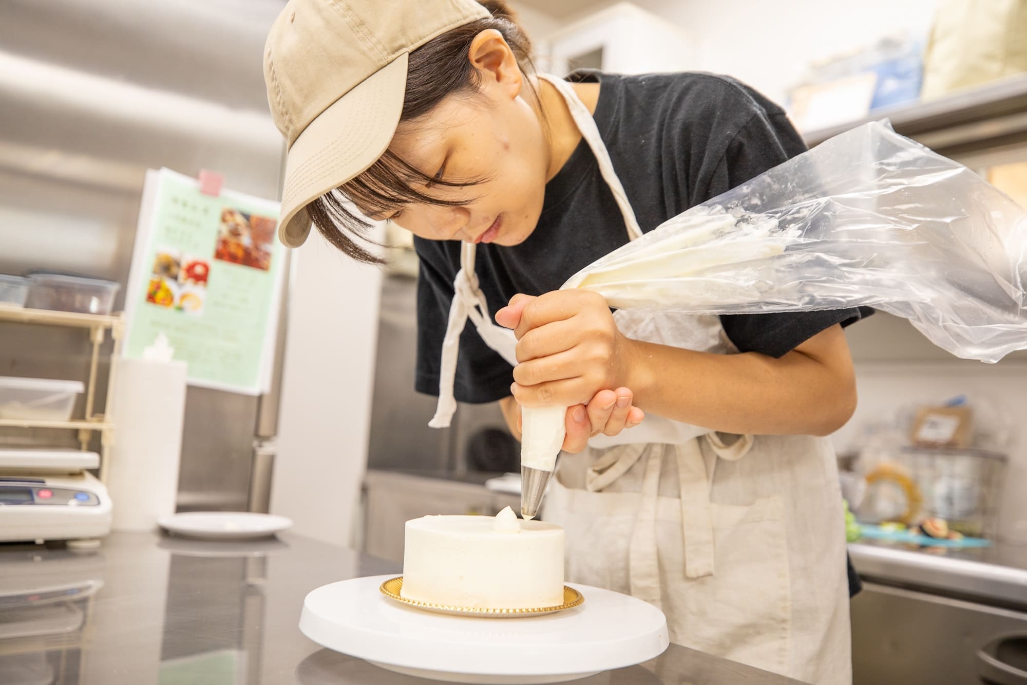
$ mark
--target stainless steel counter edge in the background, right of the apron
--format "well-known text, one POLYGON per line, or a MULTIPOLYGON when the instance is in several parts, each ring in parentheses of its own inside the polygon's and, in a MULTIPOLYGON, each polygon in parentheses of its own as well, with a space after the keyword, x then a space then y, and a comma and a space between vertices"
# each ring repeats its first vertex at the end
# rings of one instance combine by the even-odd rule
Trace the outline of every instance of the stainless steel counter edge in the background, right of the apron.
POLYGON ((866 580, 1027 607, 1027 545, 930 550, 868 540, 849 544, 848 552, 866 580))

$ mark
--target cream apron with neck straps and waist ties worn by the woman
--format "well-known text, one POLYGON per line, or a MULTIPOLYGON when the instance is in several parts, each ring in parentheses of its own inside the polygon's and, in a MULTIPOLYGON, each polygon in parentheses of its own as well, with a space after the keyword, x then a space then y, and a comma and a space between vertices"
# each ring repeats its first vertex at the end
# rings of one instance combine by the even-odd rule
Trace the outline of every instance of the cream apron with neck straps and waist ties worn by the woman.
MULTIPOLYGON (((595 120, 563 94, 623 215, 642 235, 595 120)), ((464 243, 443 342, 439 409, 448 426, 460 333, 469 318, 517 364, 512 331, 492 321, 464 243)), ((717 316, 614 313, 627 337, 737 352, 717 316)), ((835 456, 811 436, 722 436, 647 414, 620 435, 560 457, 542 515, 567 531, 567 579, 659 607, 671 640, 817 685, 851 682, 845 531, 835 456)))

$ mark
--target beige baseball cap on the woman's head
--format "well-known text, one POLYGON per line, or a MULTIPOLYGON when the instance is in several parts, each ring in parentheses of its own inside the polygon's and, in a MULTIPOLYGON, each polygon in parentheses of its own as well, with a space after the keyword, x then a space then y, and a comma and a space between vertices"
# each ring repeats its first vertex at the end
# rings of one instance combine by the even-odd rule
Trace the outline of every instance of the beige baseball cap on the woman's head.
POLYGON ((488 16, 476 0, 289 1, 264 46, 267 99, 288 146, 278 240, 302 245, 307 205, 385 152, 411 50, 488 16))

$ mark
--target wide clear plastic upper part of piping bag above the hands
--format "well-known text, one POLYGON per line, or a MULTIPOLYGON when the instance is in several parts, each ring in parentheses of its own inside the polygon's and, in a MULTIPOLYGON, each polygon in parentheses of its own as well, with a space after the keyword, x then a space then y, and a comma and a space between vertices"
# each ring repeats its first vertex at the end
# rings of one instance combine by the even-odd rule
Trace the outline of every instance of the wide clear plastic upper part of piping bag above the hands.
POLYGON ((760 314, 869 305, 939 347, 1027 349, 1027 212, 868 123, 668 220, 571 278, 610 307, 760 314))

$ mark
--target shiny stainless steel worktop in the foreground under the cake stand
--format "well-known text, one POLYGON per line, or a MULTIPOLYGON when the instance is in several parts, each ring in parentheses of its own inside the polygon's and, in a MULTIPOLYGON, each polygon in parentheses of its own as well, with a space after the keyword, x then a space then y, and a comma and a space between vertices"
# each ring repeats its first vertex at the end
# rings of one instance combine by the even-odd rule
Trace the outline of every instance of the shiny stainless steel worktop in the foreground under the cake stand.
MULTIPOLYGON (((296 535, 251 543, 116 533, 100 549, 0 546, 5 685, 428 685, 321 649, 297 627, 326 583, 392 564, 296 535)), ((801 685, 672 645, 581 685, 801 685)))

